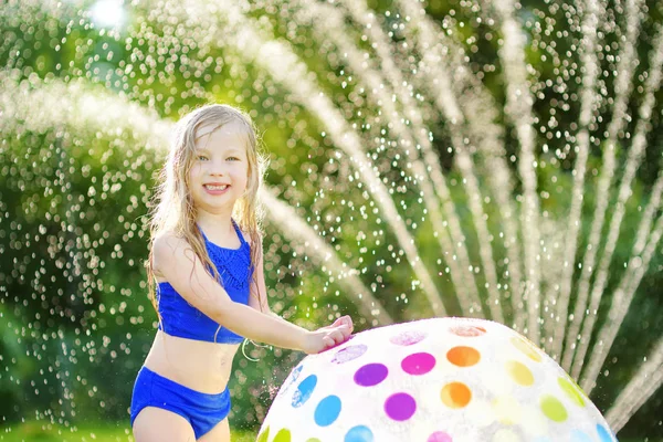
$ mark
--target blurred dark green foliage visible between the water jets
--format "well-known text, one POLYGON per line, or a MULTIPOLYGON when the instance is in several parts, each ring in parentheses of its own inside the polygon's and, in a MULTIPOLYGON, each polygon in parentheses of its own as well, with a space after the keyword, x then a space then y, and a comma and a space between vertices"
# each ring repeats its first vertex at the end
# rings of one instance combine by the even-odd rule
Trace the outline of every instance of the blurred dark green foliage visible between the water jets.
MULTIPOLYGON (((461 3, 431 1, 427 12, 439 23, 450 17, 451 10, 461 18, 471 17, 471 10, 461 3)), ((293 30, 277 19, 281 8, 287 9, 287 4, 259 3, 248 14, 275 23, 274 34, 290 41, 309 71, 316 73, 320 87, 338 103, 347 120, 362 127, 365 117, 357 110, 364 110, 366 119, 375 116, 377 110, 368 99, 362 99, 356 82, 350 81, 347 90, 341 86, 341 80, 348 77, 341 72, 347 67, 339 57, 326 56, 333 53, 333 49, 327 48, 327 42, 316 40, 309 25, 299 23, 293 30)), ((545 4, 534 0, 523 2, 520 19, 526 21, 545 4)), ((638 45, 641 78, 649 67, 651 36, 662 22, 660 6, 654 1, 646 4, 642 44, 638 45)), ((386 25, 390 21, 398 22, 393 14, 386 15, 387 11, 394 10, 390 2, 373 1, 370 7, 383 18, 386 25)), ((173 122, 179 115, 211 99, 243 107, 262 130, 272 159, 267 183, 280 198, 295 207, 309 224, 318 227, 320 235, 349 265, 361 270, 362 281, 372 287, 394 320, 431 315, 423 294, 413 286, 413 273, 402 253, 399 254, 399 248, 388 248, 397 244, 394 236, 377 211, 373 212, 375 206, 368 193, 349 179, 354 171, 347 158, 338 156, 333 143, 323 135, 325 125, 311 109, 292 99, 269 73, 241 62, 231 48, 196 46, 194 42, 187 41, 192 36, 182 38, 179 46, 167 39, 158 40, 160 35, 169 34, 166 28, 171 23, 150 15, 149 10, 141 9, 141 6, 135 7, 127 28, 118 34, 90 25, 84 10, 76 8, 70 3, 53 8, 48 3, 15 1, 0 7, 2 78, 7 84, 21 85, 18 90, 23 94, 15 95, 17 101, 33 97, 30 95, 32 92, 48 90, 52 84, 80 84, 77 78, 83 78, 85 82, 81 83, 80 96, 116 95, 118 99, 126 101, 127 106, 131 102, 155 119, 167 122, 173 122), (154 41, 159 43, 155 45, 154 41), (170 48, 177 49, 175 53, 179 55, 181 48, 190 48, 189 56, 176 60, 155 54, 156 46, 168 49, 168 44, 172 44, 170 48), (140 54, 143 59, 137 60, 140 54), (131 65, 134 67, 129 69, 131 65), (200 96, 197 93, 200 91, 208 94, 200 96), (354 201, 354 204, 349 206, 348 201, 354 201), (337 219, 343 220, 340 225, 337 219), (366 239, 358 241, 361 232, 367 233, 366 239)), ((457 20, 462 21, 461 18, 457 20)), ((614 20, 620 22, 621 18, 614 20)), ((465 38, 459 40, 467 48, 474 44, 465 43, 470 36, 485 36, 488 32, 485 25, 469 29, 457 23, 454 32, 465 38)), ((360 30, 354 29, 352 32, 357 44, 365 44, 359 39, 360 30)), ((399 36, 393 39, 398 41, 399 36)), ((611 39, 619 40, 608 33, 606 41, 609 43, 611 39)), ((556 41, 561 53, 571 39, 556 41)), ((478 72, 486 63, 495 64, 495 70, 484 72, 483 82, 496 102, 503 104, 505 85, 503 70, 495 62, 498 51, 496 39, 488 41, 482 38, 477 45, 471 65, 478 72)), ((540 54, 530 46, 526 59, 538 72, 537 81, 556 78, 550 64, 543 62, 540 54)), ((609 91, 612 91, 612 77, 606 78, 609 91)), ((570 92, 578 92, 580 87, 572 81, 568 85, 570 92)), ((63 103, 67 98, 76 98, 65 94, 53 92, 55 101, 52 103, 57 103, 59 98, 63 103)), ((632 115, 638 114, 641 94, 641 90, 634 90, 630 101, 632 115)), ((550 98, 547 96, 536 102, 537 115, 549 113, 550 98)), ((629 199, 620 236, 623 240, 620 239, 612 259, 607 294, 612 293, 623 273, 623 265, 631 255, 630 239, 634 238, 642 210, 661 170, 661 92, 656 98, 646 158, 629 199)), ((21 103, 17 108, 30 109, 30 106, 31 103, 21 103)), ((452 183, 452 200, 466 234, 467 249, 472 261, 477 263, 478 239, 467 209, 467 194, 454 167, 454 155, 448 150, 450 128, 430 108, 430 104, 423 102, 421 106, 431 118, 434 145, 452 183)), ((602 106, 599 112, 609 114, 609 101, 602 106)), ((0 415, 6 424, 25 418, 61 424, 98 418, 128 422, 133 381, 155 333, 156 315, 147 299, 143 262, 147 256, 147 204, 166 147, 155 146, 154 139, 166 139, 167 134, 134 130, 131 120, 127 118, 92 124, 81 123, 90 122, 84 116, 63 117, 60 122, 40 126, 31 123, 33 110, 2 115, 0 415)), ((69 114, 74 110, 64 106, 60 112, 69 114)), ((92 112, 103 115, 105 109, 93 108, 92 112)), ((559 126, 570 127, 578 119, 578 113, 579 106, 576 106, 558 115, 559 126)), ((507 128, 505 155, 517 155, 515 134, 505 117, 501 115, 499 118, 498 123, 507 128)), ((597 122, 592 134, 604 131, 609 120, 608 115, 597 122)), ((634 124, 629 127, 631 133, 634 124)), ((165 127, 150 129, 165 130, 165 127)), ((362 130, 369 143, 373 134, 362 130)), ((619 158, 625 157, 629 143, 624 140, 624 146, 619 147, 619 158)), ((375 147, 371 151, 379 152, 375 147)), ((583 250, 589 235, 601 148, 600 144, 592 147, 588 165, 579 250, 583 250)), ((565 217, 571 202, 575 154, 571 150, 559 156, 550 149, 548 152, 540 150, 538 155, 541 162, 549 165, 537 170, 538 192, 549 196, 541 199, 541 211, 550 213, 546 223, 552 233, 562 238, 565 217), (556 178, 555 182, 551 177, 556 178)), ((402 191, 393 193, 394 203, 402 209, 408 225, 418 224, 411 233, 421 259, 438 275, 435 283, 450 306, 450 313, 460 314, 455 287, 444 272, 444 260, 449 255, 440 251, 433 241, 432 227, 423 207, 417 201, 417 186, 401 178, 401 172, 409 173, 406 161, 394 157, 391 149, 381 152, 381 157, 375 154, 373 160, 381 177, 404 186, 402 191)), ((517 176, 517 161, 511 161, 511 166, 514 176, 517 176)), ((480 169, 477 177, 486 193, 490 190, 487 172, 480 169)), ((522 189, 516 185, 513 198, 519 201, 522 189)), ((491 201, 484 204, 484 209, 488 213, 488 229, 498 238, 502 228, 497 208, 491 201)), ((355 317, 358 330, 371 326, 370 319, 361 317, 357 306, 344 295, 344 287, 306 257, 305 246, 288 243, 269 219, 265 229, 265 274, 274 311, 308 328, 324 325, 345 313, 355 317)), ((498 274, 504 281, 506 266, 497 260, 505 255, 504 246, 499 241, 492 245, 498 274)), ((577 260, 581 257, 577 256, 577 260)), ((603 368, 609 375, 600 377, 599 387, 592 394, 592 400, 602 411, 614 401, 640 366, 643 355, 663 335, 662 269, 663 256, 659 251, 640 284, 603 368)), ((483 275, 477 274, 480 286, 483 285, 482 278, 483 275)), ((610 296, 604 296, 603 304, 609 301, 610 296)), ((606 312, 607 305, 602 307, 606 312)), ((599 318, 599 323, 602 322, 604 313, 599 318)), ((235 358, 231 422, 236 428, 255 429, 270 406, 270 399, 303 355, 257 348, 251 344, 244 350, 260 361, 254 362, 241 354, 235 358)), ((623 434, 662 435, 662 406, 663 396, 659 391, 636 413, 623 434)))

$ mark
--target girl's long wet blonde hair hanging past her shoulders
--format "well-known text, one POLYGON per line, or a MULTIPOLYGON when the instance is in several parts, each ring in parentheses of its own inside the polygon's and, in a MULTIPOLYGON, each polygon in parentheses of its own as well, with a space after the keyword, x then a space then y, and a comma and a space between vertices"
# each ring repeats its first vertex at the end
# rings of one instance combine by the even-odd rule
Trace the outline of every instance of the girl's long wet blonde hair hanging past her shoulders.
MULTIPOLYGON (((255 270, 262 255, 262 219, 263 209, 257 199, 257 191, 263 182, 263 176, 267 168, 267 159, 259 148, 259 139, 255 126, 251 117, 244 112, 224 104, 210 104, 199 107, 183 116, 175 126, 172 141, 168 158, 160 170, 157 191, 154 196, 154 206, 150 210, 150 241, 149 257, 146 262, 149 298, 157 312, 159 323, 161 316, 156 297, 155 273, 152 264, 152 244, 156 238, 164 232, 171 232, 178 238, 186 240, 191 246, 194 256, 200 259, 206 269, 220 284, 222 280, 212 264, 204 246, 204 239, 197 227, 197 210, 193 206, 189 190, 189 171, 196 158, 196 139, 198 130, 202 127, 211 127, 212 131, 230 124, 239 123, 245 129, 246 159, 249 172, 246 190, 235 202, 232 217, 240 229, 248 233, 251 244, 251 270, 250 284, 255 284, 259 292, 255 270)), ((262 302, 261 294, 259 303, 262 302)), ((261 303, 262 305, 262 303, 261 303)), ((219 330, 217 330, 218 333, 219 330)), ((215 336, 214 336, 215 340, 215 336)))

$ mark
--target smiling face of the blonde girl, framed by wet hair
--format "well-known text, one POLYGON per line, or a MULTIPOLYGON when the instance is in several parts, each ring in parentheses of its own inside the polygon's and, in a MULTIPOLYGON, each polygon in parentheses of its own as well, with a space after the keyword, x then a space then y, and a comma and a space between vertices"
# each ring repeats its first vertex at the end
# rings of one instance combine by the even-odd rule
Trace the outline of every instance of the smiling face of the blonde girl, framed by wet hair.
POLYGON ((235 122, 212 129, 203 126, 196 133, 189 191, 198 210, 230 214, 249 180, 245 129, 235 122))

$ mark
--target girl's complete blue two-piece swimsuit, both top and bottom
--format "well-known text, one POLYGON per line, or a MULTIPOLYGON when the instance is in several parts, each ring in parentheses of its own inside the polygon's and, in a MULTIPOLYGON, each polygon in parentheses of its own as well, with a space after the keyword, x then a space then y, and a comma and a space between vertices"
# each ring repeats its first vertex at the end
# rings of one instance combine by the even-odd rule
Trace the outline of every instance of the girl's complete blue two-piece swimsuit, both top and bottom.
MULTIPOLYGON (((239 249, 221 248, 210 242, 202 230, 200 233, 228 295, 235 303, 248 304, 252 275, 251 248, 234 220, 232 223, 241 241, 239 249)), ((170 336, 219 344, 239 344, 244 339, 193 307, 167 282, 157 286, 157 304, 162 322, 159 329, 170 336)), ((193 428, 196 439, 199 439, 225 419, 230 406, 228 387, 221 393, 208 394, 181 386, 143 366, 131 396, 131 427, 140 410, 157 407, 183 417, 193 428)))

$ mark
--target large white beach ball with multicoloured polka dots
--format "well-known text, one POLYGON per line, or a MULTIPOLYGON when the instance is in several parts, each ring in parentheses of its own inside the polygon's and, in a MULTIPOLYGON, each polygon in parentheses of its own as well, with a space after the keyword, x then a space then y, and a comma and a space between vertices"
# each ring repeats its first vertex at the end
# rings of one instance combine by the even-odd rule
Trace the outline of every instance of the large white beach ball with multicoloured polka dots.
POLYGON ((375 328, 307 356, 259 442, 610 442, 594 404, 522 335, 481 319, 375 328))

